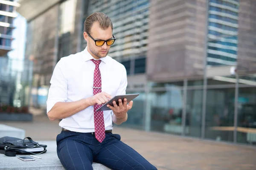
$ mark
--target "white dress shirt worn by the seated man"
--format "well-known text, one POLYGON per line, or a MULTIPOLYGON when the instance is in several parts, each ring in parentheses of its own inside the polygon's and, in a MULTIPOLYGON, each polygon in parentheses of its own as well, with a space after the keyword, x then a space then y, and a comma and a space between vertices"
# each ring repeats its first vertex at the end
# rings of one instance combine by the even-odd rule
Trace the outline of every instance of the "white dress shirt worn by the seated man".
MULTIPOLYGON (((56 64, 50 80, 47 99, 47 113, 57 102, 75 102, 93 96, 94 59, 87 51, 62 57, 56 64)), ((127 74, 124 65, 109 56, 101 58, 99 70, 102 78, 102 92, 112 97, 125 94, 127 74)), ((111 130, 112 111, 103 111, 105 130, 111 130)), ((62 119, 59 125, 75 132, 94 132, 93 106, 73 116, 62 119)))

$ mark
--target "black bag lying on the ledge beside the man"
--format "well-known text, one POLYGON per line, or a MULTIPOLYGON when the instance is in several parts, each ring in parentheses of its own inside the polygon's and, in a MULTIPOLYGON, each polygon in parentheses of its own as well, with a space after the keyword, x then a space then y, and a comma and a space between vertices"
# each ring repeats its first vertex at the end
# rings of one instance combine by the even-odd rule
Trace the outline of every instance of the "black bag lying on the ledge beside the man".
POLYGON ((16 156, 16 154, 41 154, 47 152, 46 144, 38 144, 30 137, 19 139, 10 136, 0 138, 0 153, 6 156, 16 156))

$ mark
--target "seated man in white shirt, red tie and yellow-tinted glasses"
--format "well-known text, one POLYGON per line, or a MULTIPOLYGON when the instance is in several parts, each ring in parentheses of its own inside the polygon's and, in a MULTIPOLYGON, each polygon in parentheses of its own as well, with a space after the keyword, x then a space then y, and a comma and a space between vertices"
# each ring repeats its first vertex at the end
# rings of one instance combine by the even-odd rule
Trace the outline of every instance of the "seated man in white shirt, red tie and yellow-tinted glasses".
POLYGON ((57 136, 57 153, 69 170, 92 170, 101 163, 113 170, 156 170, 143 156, 112 133, 112 121, 120 125, 127 120, 133 102, 119 100, 111 111, 96 111, 112 96, 125 94, 125 67, 107 56, 115 38, 110 18, 93 13, 84 22, 87 47, 77 54, 63 57, 55 66, 50 81, 47 115, 62 119, 57 136))

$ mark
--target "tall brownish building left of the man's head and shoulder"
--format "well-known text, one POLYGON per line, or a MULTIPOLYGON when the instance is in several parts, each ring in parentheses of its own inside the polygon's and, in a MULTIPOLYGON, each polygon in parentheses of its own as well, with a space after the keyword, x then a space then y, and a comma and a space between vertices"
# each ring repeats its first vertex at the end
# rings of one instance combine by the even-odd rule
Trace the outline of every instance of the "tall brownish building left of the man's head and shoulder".
POLYGON ((33 61, 32 102, 46 109, 52 71, 61 57, 81 50, 83 0, 23 0, 17 11, 27 20, 25 58, 33 61), (36 8, 27 11, 27 8, 36 8))

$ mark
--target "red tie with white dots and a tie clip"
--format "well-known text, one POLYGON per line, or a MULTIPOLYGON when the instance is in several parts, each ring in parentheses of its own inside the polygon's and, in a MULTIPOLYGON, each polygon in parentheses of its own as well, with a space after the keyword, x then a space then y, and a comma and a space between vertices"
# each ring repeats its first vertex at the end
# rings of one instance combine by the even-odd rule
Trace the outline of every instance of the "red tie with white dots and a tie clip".
MULTIPOLYGON (((101 75, 99 71, 99 63, 101 60, 91 59, 95 64, 94 75, 93 75, 93 95, 102 92, 101 91, 101 75)), ((105 139, 105 125, 103 111, 96 111, 100 105, 96 104, 93 106, 94 112, 94 128, 95 138, 101 143, 105 139)))

